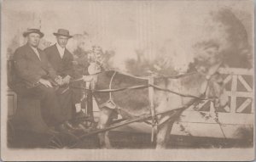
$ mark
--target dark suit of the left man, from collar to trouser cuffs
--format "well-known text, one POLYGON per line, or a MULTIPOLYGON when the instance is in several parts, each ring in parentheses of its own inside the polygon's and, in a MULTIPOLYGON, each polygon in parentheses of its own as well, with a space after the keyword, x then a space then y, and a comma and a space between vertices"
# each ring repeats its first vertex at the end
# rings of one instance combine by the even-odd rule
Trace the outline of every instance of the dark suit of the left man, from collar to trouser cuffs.
POLYGON ((38 83, 40 78, 54 80, 56 72, 49 64, 44 51, 38 49, 40 59, 28 44, 18 47, 14 53, 15 86, 18 95, 18 109, 15 112, 15 126, 30 131, 48 130, 67 118, 63 115, 55 88, 38 83), (45 118, 46 117, 46 118, 45 118))

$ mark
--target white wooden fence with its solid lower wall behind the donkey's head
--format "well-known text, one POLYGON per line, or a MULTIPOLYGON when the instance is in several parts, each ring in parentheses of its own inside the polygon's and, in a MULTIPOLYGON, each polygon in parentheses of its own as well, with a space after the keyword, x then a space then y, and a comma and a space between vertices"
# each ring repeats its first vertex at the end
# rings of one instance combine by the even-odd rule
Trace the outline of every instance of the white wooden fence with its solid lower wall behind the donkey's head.
MULTIPOLYGON (((219 72, 224 77, 230 98, 224 109, 217 109, 218 120, 221 125, 214 120, 216 114, 213 103, 210 101, 201 103, 197 111, 193 107, 186 110, 183 113, 181 124, 193 136, 239 138, 241 137, 240 131, 245 129, 253 133, 253 70, 232 68, 220 69, 219 72), (221 131, 220 127, 224 132, 221 131)), ((173 133, 184 134, 178 129, 174 129, 173 133)))

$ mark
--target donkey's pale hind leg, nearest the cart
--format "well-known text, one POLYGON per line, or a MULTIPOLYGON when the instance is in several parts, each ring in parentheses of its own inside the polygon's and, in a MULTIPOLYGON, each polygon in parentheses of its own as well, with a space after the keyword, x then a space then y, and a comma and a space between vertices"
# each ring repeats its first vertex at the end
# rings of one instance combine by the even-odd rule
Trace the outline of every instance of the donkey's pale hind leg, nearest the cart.
MULTIPOLYGON (((102 108, 100 111, 98 128, 104 129, 109 126, 110 116, 113 110, 108 108, 102 108)), ((108 137, 108 131, 98 134, 100 144, 102 148, 111 148, 111 143, 108 137)))

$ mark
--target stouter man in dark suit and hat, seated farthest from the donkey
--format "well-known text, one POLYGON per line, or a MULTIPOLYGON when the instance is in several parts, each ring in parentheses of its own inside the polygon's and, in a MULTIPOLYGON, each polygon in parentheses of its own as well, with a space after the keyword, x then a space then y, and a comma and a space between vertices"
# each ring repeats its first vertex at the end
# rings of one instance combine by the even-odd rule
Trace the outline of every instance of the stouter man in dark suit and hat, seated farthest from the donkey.
POLYGON ((39 108, 26 103, 25 108, 17 109, 14 121, 19 125, 26 120, 24 125, 37 132, 51 131, 49 125, 63 127, 66 119, 55 92, 55 87, 61 85, 60 76, 49 64, 44 51, 38 48, 44 33, 28 29, 23 36, 27 38, 26 45, 18 47, 14 53, 16 79, 13 89, 21 98, 38 101, 39 108))

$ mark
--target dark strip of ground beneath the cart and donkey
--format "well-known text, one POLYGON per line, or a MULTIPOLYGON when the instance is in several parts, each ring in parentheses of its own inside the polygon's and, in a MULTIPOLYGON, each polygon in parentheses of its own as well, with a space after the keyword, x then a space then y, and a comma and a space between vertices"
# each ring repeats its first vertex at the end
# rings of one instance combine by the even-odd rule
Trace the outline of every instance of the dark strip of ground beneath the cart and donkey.
MULTIPOLYGON (((97 136, 79 139, 84 132, 60 133, 55 136, 16 131, 9 137, 9 148, 100 148, 97 136)), ((109 137, 113 148, 154 148, 150 134, 110 131, 109 137)), ((171 135, 168 148, 252 148, 253 139, 224 139, 212 137, 189 137, 171 135)))

